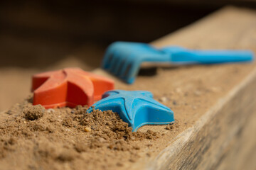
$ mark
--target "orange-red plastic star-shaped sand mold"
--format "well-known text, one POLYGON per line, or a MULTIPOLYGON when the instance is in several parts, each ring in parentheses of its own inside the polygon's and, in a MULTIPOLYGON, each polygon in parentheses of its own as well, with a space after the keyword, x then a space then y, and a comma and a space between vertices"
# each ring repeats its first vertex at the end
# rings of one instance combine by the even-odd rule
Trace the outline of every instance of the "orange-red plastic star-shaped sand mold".
POLYGON ((45 108, 91 106, 105 91, 112 89, 111 79, 79 68, 43 72, 32 77, 33 105, 41 104, 45 108))

